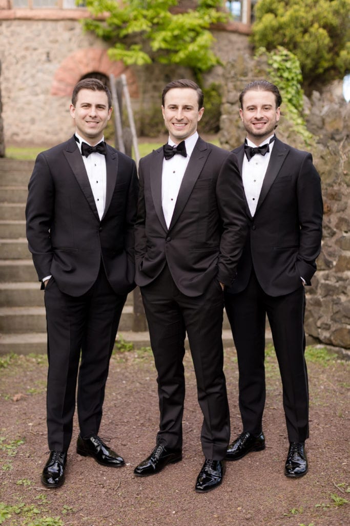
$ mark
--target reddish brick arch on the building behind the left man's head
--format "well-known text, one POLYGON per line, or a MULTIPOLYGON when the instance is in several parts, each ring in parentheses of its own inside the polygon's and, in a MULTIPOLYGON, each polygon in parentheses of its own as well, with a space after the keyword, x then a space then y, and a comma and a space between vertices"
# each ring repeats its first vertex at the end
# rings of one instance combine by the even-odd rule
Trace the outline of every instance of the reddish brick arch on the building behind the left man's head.
POLYGON ((122 62, 112 62, 107 49, 87 47, 79 49, 61 63, 57 69, 51 86, 51 95, 71 96, 74 86, 81 77, 91 72, 103 73, 107 77, 113 74, 119 77, 121 74, 126 76, 130 97, 138 97, 138 88, 135 75, 131 69, 122 62))

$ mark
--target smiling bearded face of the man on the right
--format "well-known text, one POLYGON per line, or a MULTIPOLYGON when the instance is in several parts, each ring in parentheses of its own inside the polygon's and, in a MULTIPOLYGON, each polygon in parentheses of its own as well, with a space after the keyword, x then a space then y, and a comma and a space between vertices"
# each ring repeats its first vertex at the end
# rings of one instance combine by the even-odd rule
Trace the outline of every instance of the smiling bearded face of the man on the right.
POLYGON ((248 139, 259 146, 272 135, 280 120, 280 108, 276 107, 276 99, 272 92, 251 89, 243 97, 239 115, 248 139))

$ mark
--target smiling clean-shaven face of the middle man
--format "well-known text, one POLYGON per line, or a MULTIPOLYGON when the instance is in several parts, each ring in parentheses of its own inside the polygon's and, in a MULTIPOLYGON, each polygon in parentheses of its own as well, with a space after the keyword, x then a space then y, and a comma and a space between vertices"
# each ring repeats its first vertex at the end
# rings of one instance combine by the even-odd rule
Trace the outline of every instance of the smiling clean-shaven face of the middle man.
POLYGON ((172 88, 165 94, 162 112, 169 137, 179 144, 195 133, 204 108, 198 108, 195 89, 172 88))

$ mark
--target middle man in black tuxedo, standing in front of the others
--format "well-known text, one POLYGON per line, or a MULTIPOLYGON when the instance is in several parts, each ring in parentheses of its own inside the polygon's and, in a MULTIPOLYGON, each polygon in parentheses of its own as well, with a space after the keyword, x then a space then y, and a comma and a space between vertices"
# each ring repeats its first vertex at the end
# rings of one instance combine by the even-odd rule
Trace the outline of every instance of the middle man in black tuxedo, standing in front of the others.
POLYGON ((164 88, 162 104, 168 144, 140 161, 135 227, 135 281, 158 373, 160 428, 156 447, 134 473, 152 475, 182 459, 187 332, 204 416, 205 462, 196 482, 203 492, 221 483, 229 442, 222 289, 235 278, 247 218, 236 156, 198 136, 201 89, 175 80, 164 88))

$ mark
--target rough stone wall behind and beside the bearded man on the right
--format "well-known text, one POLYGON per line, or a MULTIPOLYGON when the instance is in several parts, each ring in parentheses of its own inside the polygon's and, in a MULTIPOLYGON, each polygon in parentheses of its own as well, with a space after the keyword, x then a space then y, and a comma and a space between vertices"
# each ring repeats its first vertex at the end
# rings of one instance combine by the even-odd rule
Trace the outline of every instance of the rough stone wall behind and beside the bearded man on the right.
MULTIPOLYGON (((240 55, 228 62, 224 74, 220 142, 232 149, 245 138, 238 114, 238 95, 248 82, 266 78, 263 61, 240 55)), ((306 287, 305 330, 308 341, 350 349, 350 104, 342 95, 342 82, 333 82, 322 92, 304 98, 307 128, 315 135, 314 164, 322 180, 324 200, 323 242, 312 287, 306 287)), ((283 116, 279 138, 309 150, 283 116)))

